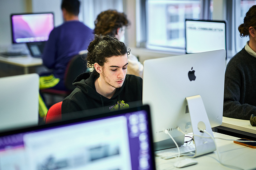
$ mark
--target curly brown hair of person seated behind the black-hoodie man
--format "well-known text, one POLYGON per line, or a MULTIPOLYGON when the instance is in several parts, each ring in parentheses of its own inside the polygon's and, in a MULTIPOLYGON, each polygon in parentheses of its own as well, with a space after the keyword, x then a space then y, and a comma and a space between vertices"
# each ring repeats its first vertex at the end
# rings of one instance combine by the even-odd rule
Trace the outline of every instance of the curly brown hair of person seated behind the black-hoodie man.
POLYGON ((124 13, 117 12, 116 10, 107 10, 97 16, 94 24, 95 34, 115 36, 118 28, 127 27, 130 22, 124 13))

